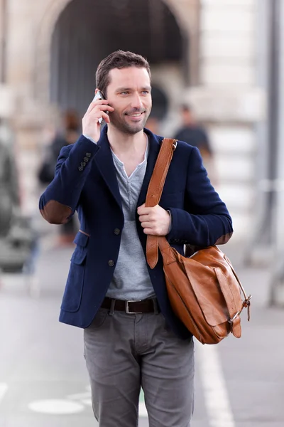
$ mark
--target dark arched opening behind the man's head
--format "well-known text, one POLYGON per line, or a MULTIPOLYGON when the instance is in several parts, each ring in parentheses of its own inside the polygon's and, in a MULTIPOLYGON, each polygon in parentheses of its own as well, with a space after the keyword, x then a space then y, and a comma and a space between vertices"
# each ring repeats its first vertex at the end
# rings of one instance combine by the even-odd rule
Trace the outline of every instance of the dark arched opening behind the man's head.
MULTIPOLYGON (((60 14, 53 31, 50 102, 60 110, 76 108, 84 115, 102 58, 122 49, 141 53, 153 71, 170 64, 183 70, 183 44, 175 17, 160 0, 136 0, 134 4, 131 0, 73 0, 60 14)), ((182 80, 180 74, 178 80, 182 80)), ((157 80, 153 77, 152 83, 157 84, 157 80)), ((170 95, 169 88, 166 92, 170 95)), ((155 95, 153 91, 154 105, 155 95)))

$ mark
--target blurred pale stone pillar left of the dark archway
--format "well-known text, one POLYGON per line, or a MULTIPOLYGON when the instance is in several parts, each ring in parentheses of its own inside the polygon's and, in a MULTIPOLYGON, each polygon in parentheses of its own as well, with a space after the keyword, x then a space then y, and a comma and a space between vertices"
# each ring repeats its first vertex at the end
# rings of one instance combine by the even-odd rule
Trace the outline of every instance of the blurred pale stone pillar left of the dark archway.
POLYGON ((16 101, 10 120, 16 139, 22 209, 25 214, 33 214, 38 204, 38 146, 49 111, 48 105, 37 102, 33 94, 35 46, 44 1, 9 0, 7 3, 6 83, 16 101))

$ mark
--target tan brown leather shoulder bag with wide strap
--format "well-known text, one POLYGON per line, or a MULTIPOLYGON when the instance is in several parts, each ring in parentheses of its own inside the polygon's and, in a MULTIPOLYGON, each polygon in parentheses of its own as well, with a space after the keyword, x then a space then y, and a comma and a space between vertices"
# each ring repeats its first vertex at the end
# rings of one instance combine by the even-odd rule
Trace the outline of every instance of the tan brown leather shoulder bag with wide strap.
MULTIPOLYGON (((148 186, 146 206, 159 204, 178 142, 165 138, 148 186)), ((148 236, 146 256, 154 268, 158 249, 163 255, 165 282, 175 315, 202 344, 217 344, 230 333, 241 337, 241 311, 248 308, 251 295, 246 296, 229 259, 217 246, 182 256, 163 236, 148 236), (241 292, 244 294, 242 300, 241 292)))

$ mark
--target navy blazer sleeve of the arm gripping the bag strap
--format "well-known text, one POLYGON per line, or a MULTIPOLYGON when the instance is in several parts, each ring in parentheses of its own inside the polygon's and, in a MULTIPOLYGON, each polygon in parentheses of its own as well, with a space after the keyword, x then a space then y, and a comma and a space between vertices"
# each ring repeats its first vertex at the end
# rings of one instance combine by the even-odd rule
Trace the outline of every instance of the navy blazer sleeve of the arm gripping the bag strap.
POLYGON ((233 233, 231 216, 210 183, 196 147, 192 147, 187 167, 185 210, 171 208, 170 214, 170 243, 219 245, 229 241, 233 233))

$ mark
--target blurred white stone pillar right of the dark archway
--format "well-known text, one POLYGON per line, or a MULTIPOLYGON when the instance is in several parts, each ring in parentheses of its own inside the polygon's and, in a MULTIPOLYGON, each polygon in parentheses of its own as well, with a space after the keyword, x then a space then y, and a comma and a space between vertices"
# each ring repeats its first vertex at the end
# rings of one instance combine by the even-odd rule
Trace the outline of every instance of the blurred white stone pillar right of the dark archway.
POLYGON ((202 0, 200 86, 186 99, 207 123, 217 190, 234 218, 234 241, 248 241, 256 199, 254 125, 265 113, 256 86, 256 0, 202 0))

